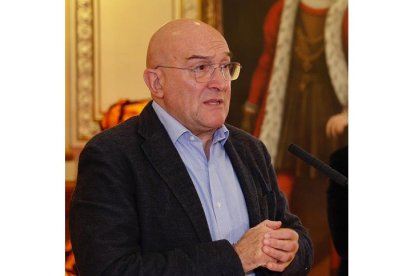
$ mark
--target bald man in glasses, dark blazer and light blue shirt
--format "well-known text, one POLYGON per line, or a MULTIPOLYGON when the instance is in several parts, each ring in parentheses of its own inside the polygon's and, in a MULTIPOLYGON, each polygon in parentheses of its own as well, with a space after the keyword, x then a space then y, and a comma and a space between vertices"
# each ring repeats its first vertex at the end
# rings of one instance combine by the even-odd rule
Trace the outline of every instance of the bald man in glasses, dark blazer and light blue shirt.
POLYGON ((224 124, 239 71, 207 24, 153 35, 153 101, 80 156, 70 230, 81 275, 307 273, 311 241, 264 145, 224 124))

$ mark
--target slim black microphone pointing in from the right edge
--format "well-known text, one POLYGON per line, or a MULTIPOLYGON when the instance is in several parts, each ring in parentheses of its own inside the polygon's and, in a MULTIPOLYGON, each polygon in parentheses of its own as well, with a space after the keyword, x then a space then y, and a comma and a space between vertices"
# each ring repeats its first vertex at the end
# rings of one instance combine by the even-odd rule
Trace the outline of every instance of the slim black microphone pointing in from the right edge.
POLYGON ((346 176, 344 176, 337 170, 333 169, 326 163, 322 162, 321 160, 313 157, 309 152, 305 151, 299 146, 295 144, 290 144, 288 147, 288 151, 296 157, 299 157, 300 159, 305 161, 306 164, 314 167, 315 169, 317 169, 318 171, 320 171, 321 173, 323 173, 339 185, 344 187, 348 185, 348 178, 346 176))

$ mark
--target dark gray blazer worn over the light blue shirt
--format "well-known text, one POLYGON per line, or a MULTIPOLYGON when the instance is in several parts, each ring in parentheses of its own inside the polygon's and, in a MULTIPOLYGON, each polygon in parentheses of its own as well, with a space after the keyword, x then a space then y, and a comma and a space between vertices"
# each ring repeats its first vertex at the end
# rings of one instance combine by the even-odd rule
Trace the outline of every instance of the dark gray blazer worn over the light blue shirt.
MULTIPOLYGON (((312 244, 288 211, 265 146, 226 126, 225 149, 250 226, 271 219, 296 230, 300 249, 283 275, 305 275, 313 261, 312 244)), ((70 234, 82 276, 244 274, 232 245, 211 240, 196 189, 151 103, 139 117, 101 132, 83 149, 70 234)), ((255 272, 272 274, 264 268, 255 272)))

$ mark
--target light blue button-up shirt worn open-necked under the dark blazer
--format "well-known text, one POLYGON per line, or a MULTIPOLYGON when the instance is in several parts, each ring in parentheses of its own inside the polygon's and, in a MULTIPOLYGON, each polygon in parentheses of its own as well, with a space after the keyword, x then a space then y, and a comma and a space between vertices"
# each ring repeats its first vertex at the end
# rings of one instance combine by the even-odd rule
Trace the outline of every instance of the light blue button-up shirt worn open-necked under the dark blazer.
POLYGON ((157 103, 153 102, 153 108, 194 183, 212 239, 236 243, 249 229, 249 217, 239 181, 224 149, 229 130, 223 125, 214 133, 207 159, 197 136, 157 103))

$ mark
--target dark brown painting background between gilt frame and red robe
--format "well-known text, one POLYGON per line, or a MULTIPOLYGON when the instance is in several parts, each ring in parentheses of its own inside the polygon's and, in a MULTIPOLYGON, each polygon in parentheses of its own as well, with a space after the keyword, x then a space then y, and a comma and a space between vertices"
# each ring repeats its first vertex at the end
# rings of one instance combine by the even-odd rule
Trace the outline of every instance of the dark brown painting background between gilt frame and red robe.
POLYGON ((223 0, 223 32, 233 60, 242 64, 240 77, 232 82, 232 100, 227 122, 240 126, 242 106, 263 49, 263 20, 275 0, 223 0))

